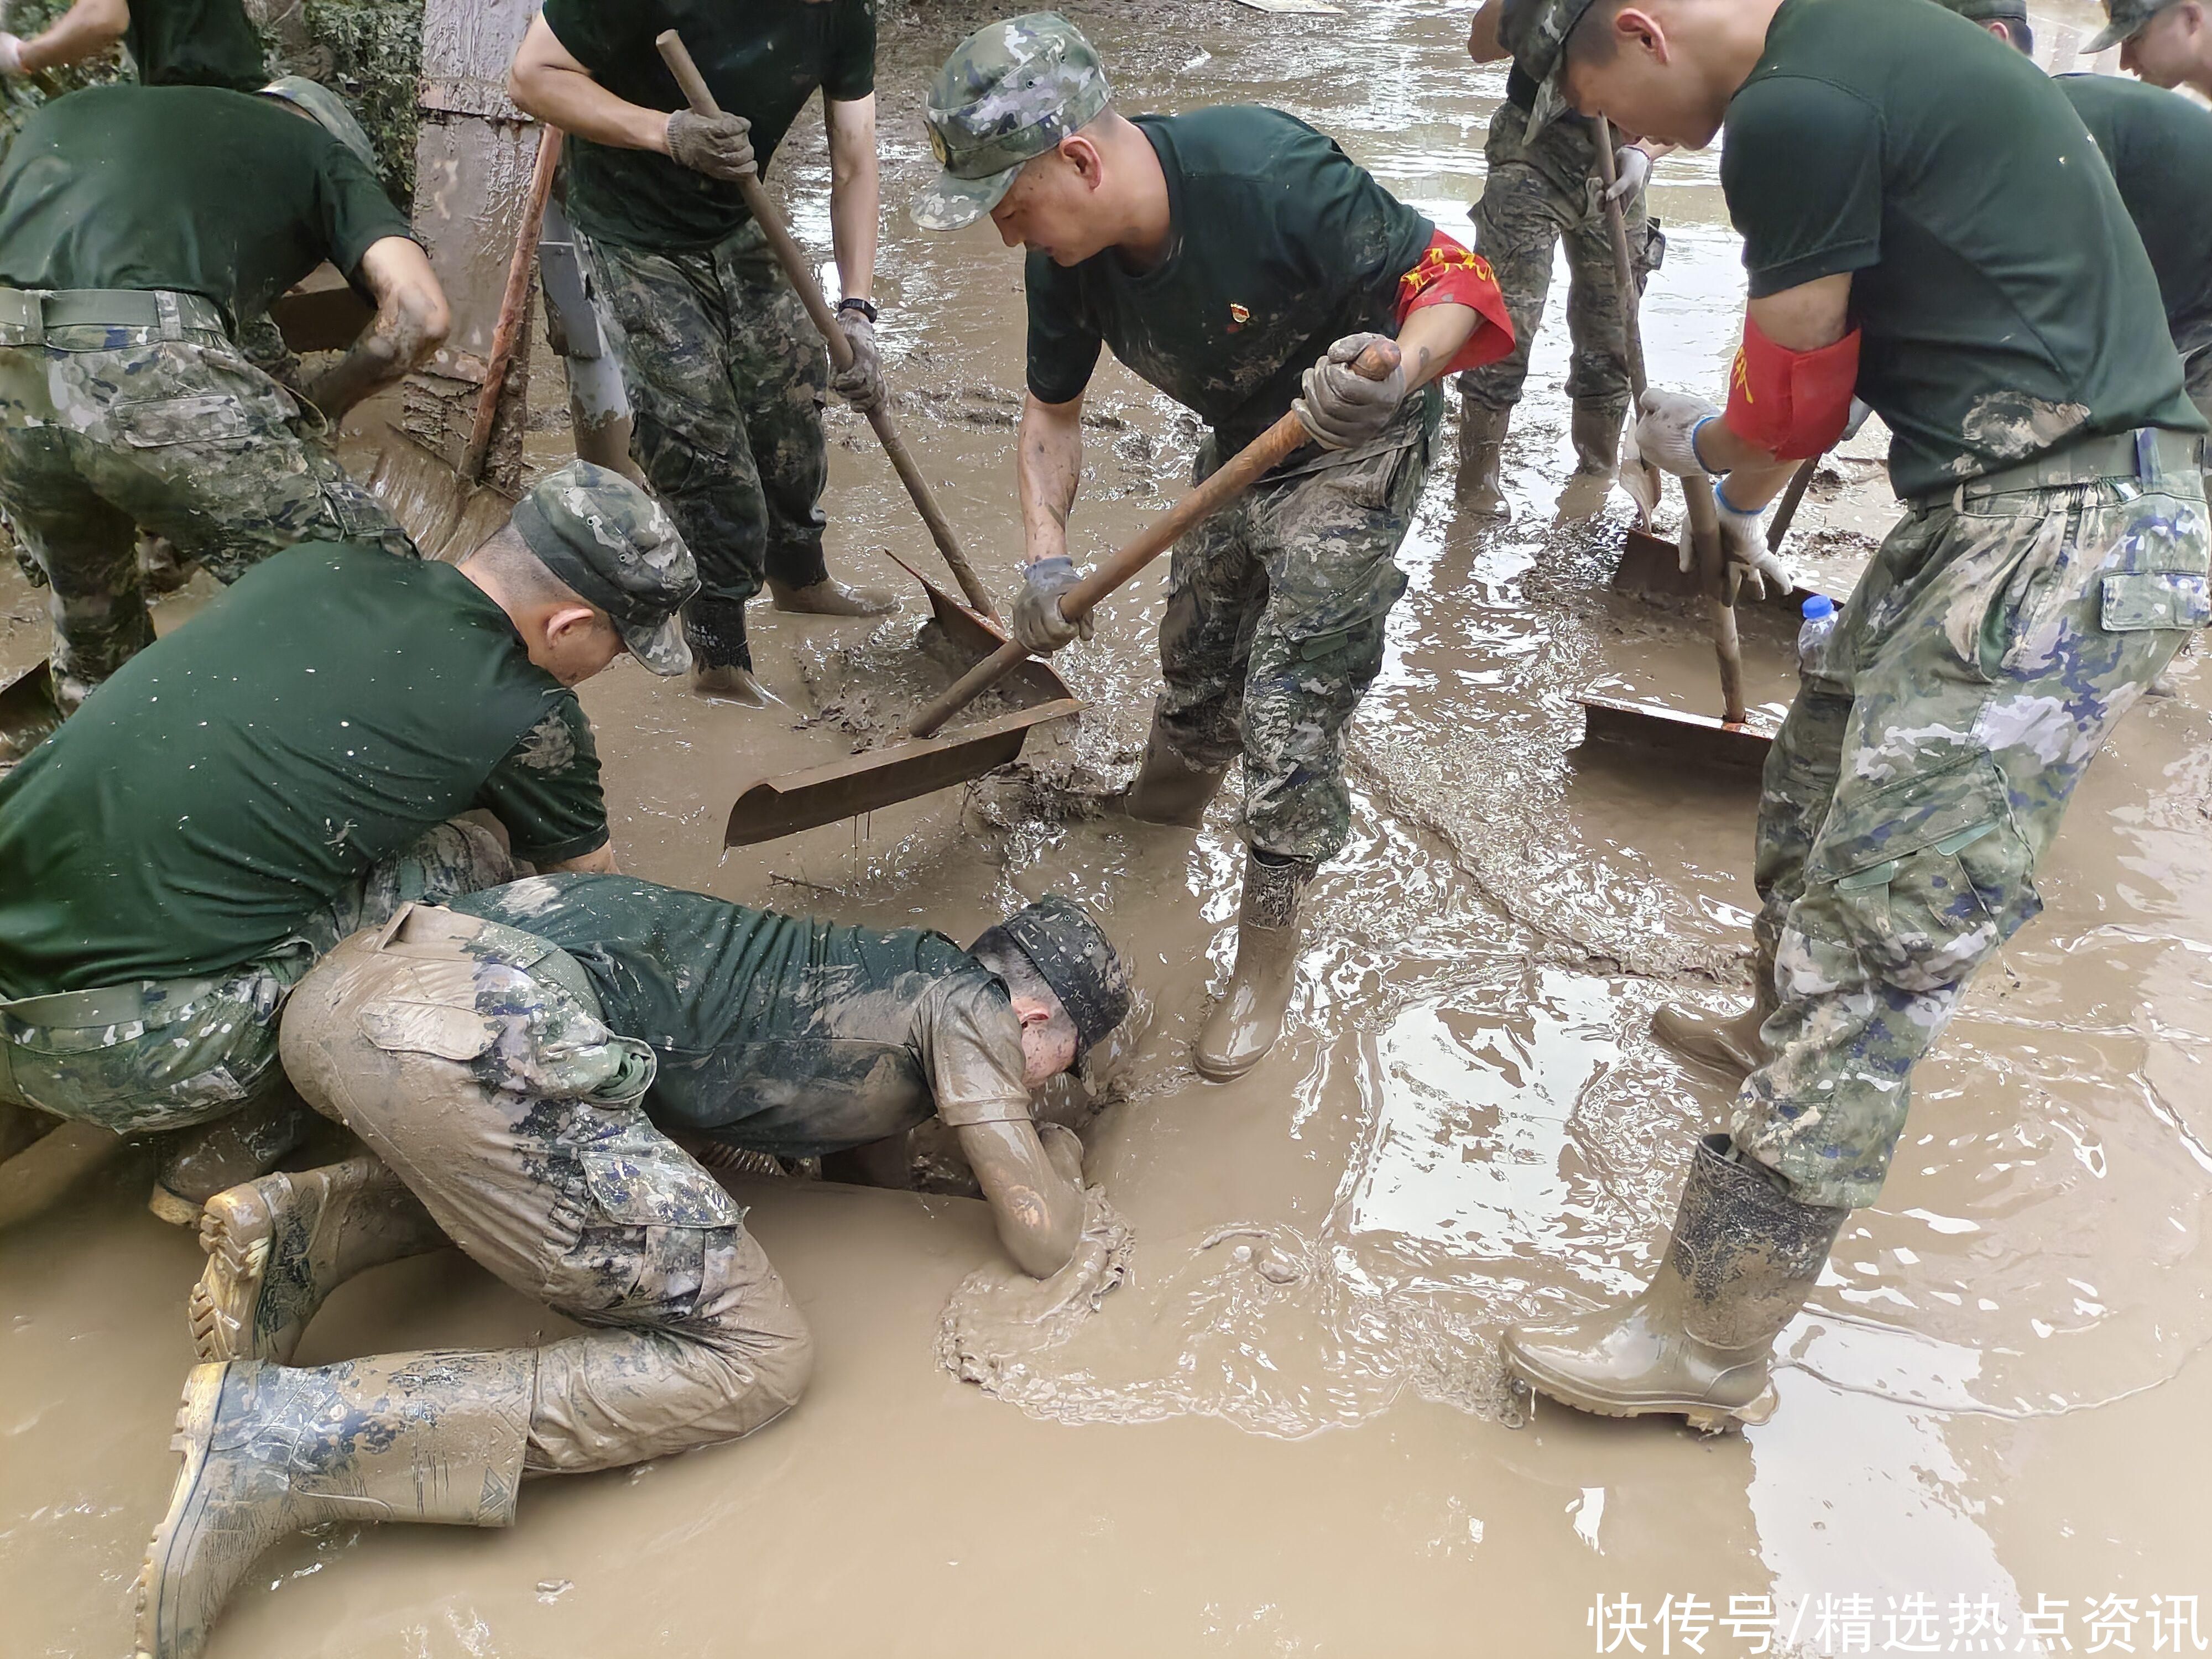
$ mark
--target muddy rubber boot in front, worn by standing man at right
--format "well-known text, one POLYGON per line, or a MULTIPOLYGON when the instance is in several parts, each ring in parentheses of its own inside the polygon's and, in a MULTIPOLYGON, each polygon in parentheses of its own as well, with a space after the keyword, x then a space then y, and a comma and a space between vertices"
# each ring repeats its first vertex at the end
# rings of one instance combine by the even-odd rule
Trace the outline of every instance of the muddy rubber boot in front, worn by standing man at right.
POLYGON ((1644 1294, 1564 1325, 1509 1329, 1506 1365, 1533 1389, 1606 1418, 1679 1413, 1692 1429, 1765 1422, 1774 1338, 1820 1279, 1849 1210, 1785 1197, 1705 1135, 1674 1237, 1644 1294))

